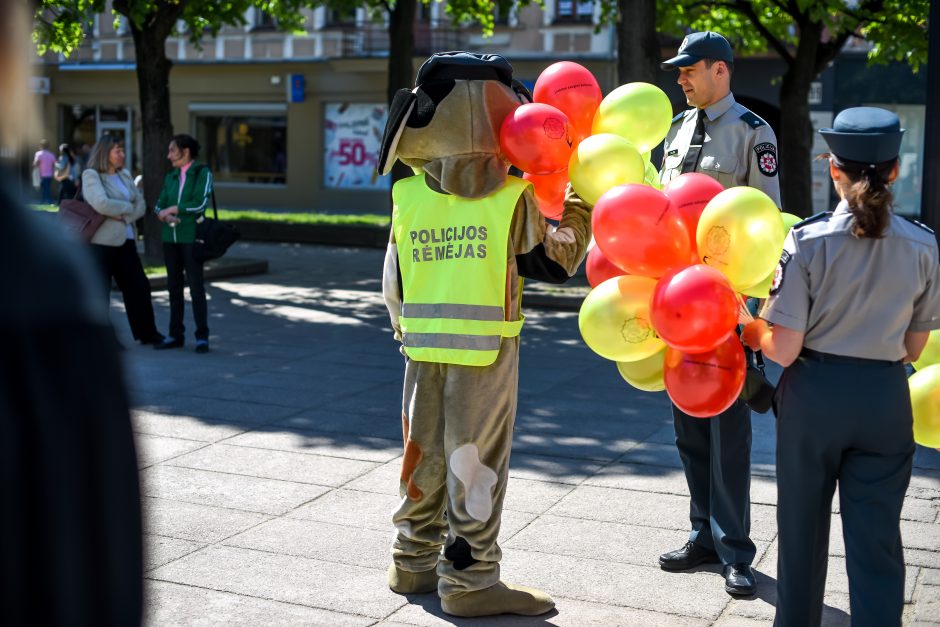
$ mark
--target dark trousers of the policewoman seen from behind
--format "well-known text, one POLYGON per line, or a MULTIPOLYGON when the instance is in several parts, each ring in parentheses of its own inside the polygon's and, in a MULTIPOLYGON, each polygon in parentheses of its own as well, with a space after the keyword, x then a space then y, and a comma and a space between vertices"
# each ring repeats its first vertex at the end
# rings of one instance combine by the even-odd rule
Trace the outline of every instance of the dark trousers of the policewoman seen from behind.
POLYGON ((822 620, 839 484, 853 627, 901 624, 900 517, 914 439, 904 366, 801 356, 780 379, 777 627, 822 620))

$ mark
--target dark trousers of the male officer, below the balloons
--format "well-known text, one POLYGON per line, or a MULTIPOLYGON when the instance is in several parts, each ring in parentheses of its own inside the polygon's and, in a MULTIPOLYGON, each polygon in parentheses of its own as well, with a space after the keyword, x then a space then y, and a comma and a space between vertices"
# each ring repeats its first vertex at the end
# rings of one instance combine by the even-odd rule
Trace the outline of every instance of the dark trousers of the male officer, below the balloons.
POLYGON ((713 418, 675 405, 676 447, 692 497, 689 540, 713 549, 724 564, 750 564, 751 410, 740 399, 713 418))

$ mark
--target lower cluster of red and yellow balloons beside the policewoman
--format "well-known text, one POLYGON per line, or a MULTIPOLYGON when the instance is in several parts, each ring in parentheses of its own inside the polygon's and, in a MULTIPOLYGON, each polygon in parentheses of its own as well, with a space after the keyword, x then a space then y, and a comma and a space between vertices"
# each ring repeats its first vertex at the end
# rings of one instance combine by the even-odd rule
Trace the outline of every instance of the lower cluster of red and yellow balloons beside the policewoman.
POLYGON ((618 362, 627 383, 665 389, 691 416, 730 407, 746 370, 735 334, 740 294, 767 296, 759 284, 772 278, 787 232, 774 202, 689 173, 662 190, 610 187, 594 205, 592 227, 594 289, 578 319, 585 343, 618 362))

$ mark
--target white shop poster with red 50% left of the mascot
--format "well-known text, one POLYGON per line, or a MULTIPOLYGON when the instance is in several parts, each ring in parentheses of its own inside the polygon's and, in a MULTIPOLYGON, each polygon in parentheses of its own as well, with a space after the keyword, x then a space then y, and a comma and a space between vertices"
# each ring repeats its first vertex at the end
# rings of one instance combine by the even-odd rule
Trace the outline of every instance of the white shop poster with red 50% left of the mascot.
POLYGON ((375 171, 388 117, 384 104, 327 103, 323 180, 338 189, 388 189, 375 171))

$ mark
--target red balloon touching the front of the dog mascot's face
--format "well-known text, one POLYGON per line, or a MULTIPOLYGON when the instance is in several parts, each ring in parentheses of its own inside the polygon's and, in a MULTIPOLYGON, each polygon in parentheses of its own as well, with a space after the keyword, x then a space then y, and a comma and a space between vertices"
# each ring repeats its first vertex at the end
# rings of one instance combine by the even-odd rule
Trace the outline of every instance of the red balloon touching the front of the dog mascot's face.
POLYGON ((523 172, 560 172, 568 167, 573 146, 568 116, 537 102, 516 107, 499 128, 499 146, 523 172))

